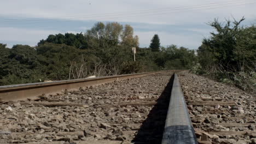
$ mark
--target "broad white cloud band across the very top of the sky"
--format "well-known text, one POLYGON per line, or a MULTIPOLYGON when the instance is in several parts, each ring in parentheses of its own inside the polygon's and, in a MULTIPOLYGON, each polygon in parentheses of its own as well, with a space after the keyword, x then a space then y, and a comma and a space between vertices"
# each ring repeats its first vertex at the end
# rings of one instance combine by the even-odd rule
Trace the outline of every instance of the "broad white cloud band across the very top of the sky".
POLYGON ((69 1, 22 0, 1 1, 0 14, 22 17, 50 17, 68 20, 95 20, 119 22, 144 22, 153 24, 200 23, 214 17, 241 17, 253 19, 256 15, 254 0, 198 0, 198 1, 69 1), (243 5, 247 4, 247 5, 243 5), (218 8, 218 9, 215 9, 218 8))

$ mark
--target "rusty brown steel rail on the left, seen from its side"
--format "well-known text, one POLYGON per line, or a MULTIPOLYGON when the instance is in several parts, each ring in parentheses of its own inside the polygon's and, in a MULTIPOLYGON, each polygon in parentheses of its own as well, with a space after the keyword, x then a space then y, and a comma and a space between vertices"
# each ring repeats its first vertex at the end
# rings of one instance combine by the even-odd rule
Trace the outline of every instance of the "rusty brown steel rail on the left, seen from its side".
POLYGON ((162 73, 153 71, 148 73, 102 76, 88 79, 62 80, 53 82, 26 83, 20 85, 0 86, 0 101, 33 99, 40 95, 50 95, 71 91, 78 88, 101 85, 108 82, 142 77, 150 74, 162 73))

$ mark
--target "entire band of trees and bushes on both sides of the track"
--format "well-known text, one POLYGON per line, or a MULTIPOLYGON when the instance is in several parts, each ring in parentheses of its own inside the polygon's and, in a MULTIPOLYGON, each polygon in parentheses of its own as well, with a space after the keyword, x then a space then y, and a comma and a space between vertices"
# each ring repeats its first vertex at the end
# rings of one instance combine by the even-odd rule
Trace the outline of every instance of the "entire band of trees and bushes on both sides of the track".
POLYGON ((51 34, 35 47, 0 44, 0 85, 190 69, 255 93, 256 27, 241 26, 243 20, 209 22, 216 31, 197 50, 162 47, 158 34, 149 47, 139 47, 133 28, 118 22, 97 22, 85 33, 51 34), (136 62, 131 47, 137 49, 136 62))

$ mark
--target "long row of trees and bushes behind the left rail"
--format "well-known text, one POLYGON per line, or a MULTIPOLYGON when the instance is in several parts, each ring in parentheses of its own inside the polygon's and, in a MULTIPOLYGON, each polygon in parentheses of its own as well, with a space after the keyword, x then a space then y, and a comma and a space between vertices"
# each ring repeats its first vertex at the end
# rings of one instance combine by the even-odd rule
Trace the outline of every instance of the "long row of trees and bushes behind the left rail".
POLYGON ((0 44, 0 85, 190 69, 195 63, 194 50, 162 47, 157 34, 142 48, 130 25, 97 22, 84 34, 51 34, 35 47, 0 44), (136 62, 131 47, 137 49, 136 62))

